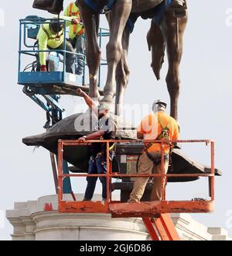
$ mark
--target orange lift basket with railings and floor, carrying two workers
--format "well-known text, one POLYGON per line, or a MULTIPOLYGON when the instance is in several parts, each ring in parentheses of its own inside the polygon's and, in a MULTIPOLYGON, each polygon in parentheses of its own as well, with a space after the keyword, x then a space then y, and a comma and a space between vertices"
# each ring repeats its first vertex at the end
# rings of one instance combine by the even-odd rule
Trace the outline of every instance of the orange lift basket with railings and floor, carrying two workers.
MULTIPOLYGON (((138 174, 121 174, 113 172, 109 157, 111 143, 136 143, 136 140, 87 140, 84 142, 87 146, 93 143, 104 143, 107 145, 107 174, 106 175, 89 175, 89 174, 63 174, 63 150, 65 147, 80 145, 77 140, 59 140, 58 142, 58 199, 60 213, 111 213, 113 217, 153 217, 161 213, 212 213, 214 210, 214 142, 212 140, 144 140, 144 143, 159 142, 161 147, 161 174, 138 175, 138 174), (165 174, 164 171, 164 145, 172 144, 210 144, 211 171, 210 174, 165 174), (63 179, 64 178, 81 178, 81 177, 106 177, 107 178, 107 200, 105 202, 81 202, 67 201, 63 198, 63 179), (112 178, 135 178, 135 177, 208 177, 210 187, 210 200, 189 200, 189 201, 166 201, 165 186, 162 188, 162 200, 154 202, 120 202, 113 201, 111 196, 112 178)), ((140 141, 141 143, 141 141, 140 141)), ((83 145, 83 143, 81 143, 83 145)))

